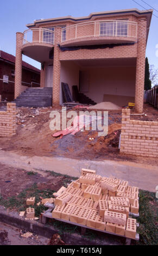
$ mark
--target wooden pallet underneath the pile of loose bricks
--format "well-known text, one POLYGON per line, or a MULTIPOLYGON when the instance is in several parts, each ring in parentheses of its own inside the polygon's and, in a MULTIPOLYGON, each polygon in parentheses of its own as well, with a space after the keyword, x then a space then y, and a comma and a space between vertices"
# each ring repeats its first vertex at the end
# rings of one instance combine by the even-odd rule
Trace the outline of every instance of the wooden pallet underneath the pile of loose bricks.
MULTIPOLYGON (((48 209, 49 210, 49 209, 48 209)), ((106 230, 100 230, 100 229, 97 229, 97 228, 91 228, 91 227, 87 227, 86 225, 82 225, 82 224, 79 224, 79 223, 75 223, 75 222, 71 222, 71 221, 66 221, 66 220, 62 220, 61 218, 53 218, 52 217, 52 212, 49 211, 45 211, 43 212, 41 215, 41 218, 40 218, 40 221, 43 223, 43 224, 46 224, 48 219, 51 218, 53 220, 56 220, 56 221, 62 221, 62 222, 65 222, 65 223, 68 223, 68 224, 72 224, 72 225, 77 225, 79 227, 81 227, 81 235, 84 235, 85 232, 86 232, 86 229, 92 229, 92 230, 95 230, 95 231, 100 231, 102 233, 106 233, 106 234, 110 234, 110 235, 116 235, 116 236, 121 236, 121 237, 125 237, 126 241, 126 245, 130 245, 131 243, 131 239, 129 237, 126 237, 125 235, 118 235, 116 233, 111 233, 109 231, 106 231, 106 230)), ((52 209, 51 209, 52 210, 52 209)), ((139 224, 137 223, 137 227, 139 226, 139 224)), ((133 240, 136 240, 136 241, 139 241, 140 239, 140 236, 138 233, 136 233, 136 237, 135 239, 133 240)))

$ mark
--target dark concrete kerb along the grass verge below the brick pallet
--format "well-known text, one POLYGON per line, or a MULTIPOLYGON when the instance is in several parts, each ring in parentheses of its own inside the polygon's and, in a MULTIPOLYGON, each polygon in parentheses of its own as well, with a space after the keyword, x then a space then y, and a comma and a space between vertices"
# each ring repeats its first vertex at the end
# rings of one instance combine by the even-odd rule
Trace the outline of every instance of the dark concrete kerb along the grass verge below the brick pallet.
MULTIPOLYGON (((25 218, 20 217, 17 214, 17 212, 7 212, 4 209, 4 206, 1 206, 1 205, 0 205, 0 222, 12 225, 19 229, 24 229, 25 231, 30 231, 35 235, 41 235, 49 239, 52 237, 53 234, 59 233, 59 230, 54 228, 52 225, 42 224, 34 220, 25 220, 25 218)), ((112 238, 112 243, 111 243, 110 236, 109 236, 109 239, 106 239, 106 240, 104 239, 89 240, 89 239, 86 239, 86 237, 84 237, 84 243, 83 243, 83 237, 81 235, 77 233, 70 234, 70 233, 63 232, 61 234, 61 239, 64 240, 66 244, 70 243, 71 241, 74 244, 74 241, 75 241, 75 245, 83 245, 83 244, 84 245, 109 245, 109 244, 120 245, 121 243, 123 243, 123 239, 122 239, 122 242, 121 240, 117 241, 118 237, 116 241, 113 241, 113 238, 112 238)))

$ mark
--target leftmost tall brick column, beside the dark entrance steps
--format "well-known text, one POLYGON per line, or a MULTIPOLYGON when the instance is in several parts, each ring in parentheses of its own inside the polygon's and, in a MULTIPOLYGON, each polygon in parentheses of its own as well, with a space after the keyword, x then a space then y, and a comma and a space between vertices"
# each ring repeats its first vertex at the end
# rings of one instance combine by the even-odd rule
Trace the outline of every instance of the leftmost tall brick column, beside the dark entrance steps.
POLYGON ((15 93, 14 93, 15 98, 21 94, 22 42, 23 42, 23 34, 20 32, 17 32, 16 33, 16 59, 15 59, 15 93))

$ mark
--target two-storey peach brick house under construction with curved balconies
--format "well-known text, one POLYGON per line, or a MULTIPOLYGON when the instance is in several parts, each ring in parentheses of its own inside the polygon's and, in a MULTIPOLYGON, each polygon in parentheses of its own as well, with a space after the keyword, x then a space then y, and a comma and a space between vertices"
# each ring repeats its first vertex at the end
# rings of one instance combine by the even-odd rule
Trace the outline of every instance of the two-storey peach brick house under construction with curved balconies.
POLYGON ((116 10, 35 20, 16 34, 15 98, 21 93, 22 54, 41 63, 41 88, 53 88, 61 104, 61 83, 95 102, 135 102, 143 111, 146 45, 153 10, 116 10))

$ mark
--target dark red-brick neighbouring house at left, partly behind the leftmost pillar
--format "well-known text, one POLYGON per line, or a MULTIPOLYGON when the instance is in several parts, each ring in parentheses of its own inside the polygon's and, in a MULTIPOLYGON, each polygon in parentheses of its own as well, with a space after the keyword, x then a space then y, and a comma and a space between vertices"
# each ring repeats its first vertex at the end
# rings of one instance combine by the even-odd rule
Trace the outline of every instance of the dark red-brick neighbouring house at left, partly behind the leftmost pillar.
MULTIPOLYGON (((40 86, 40 70, 34 66, 22 62, 21 92, 28 87, 40 86)), ((14 100, 15 89, 15 56, 0 51, 0 95, 2 101, 14 100)))

